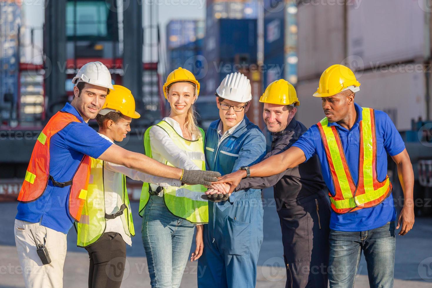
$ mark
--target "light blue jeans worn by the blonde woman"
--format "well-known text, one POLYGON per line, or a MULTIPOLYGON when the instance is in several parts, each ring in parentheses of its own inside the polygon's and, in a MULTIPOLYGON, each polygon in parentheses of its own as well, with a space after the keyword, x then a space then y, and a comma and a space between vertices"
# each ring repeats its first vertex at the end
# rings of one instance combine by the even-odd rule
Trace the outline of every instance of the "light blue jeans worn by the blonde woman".
POLYGON ((142 235, 152 287, 180 286, 194 227, 191 222, 173 215, 163 197, 150 196, 144 209, 142 235))

